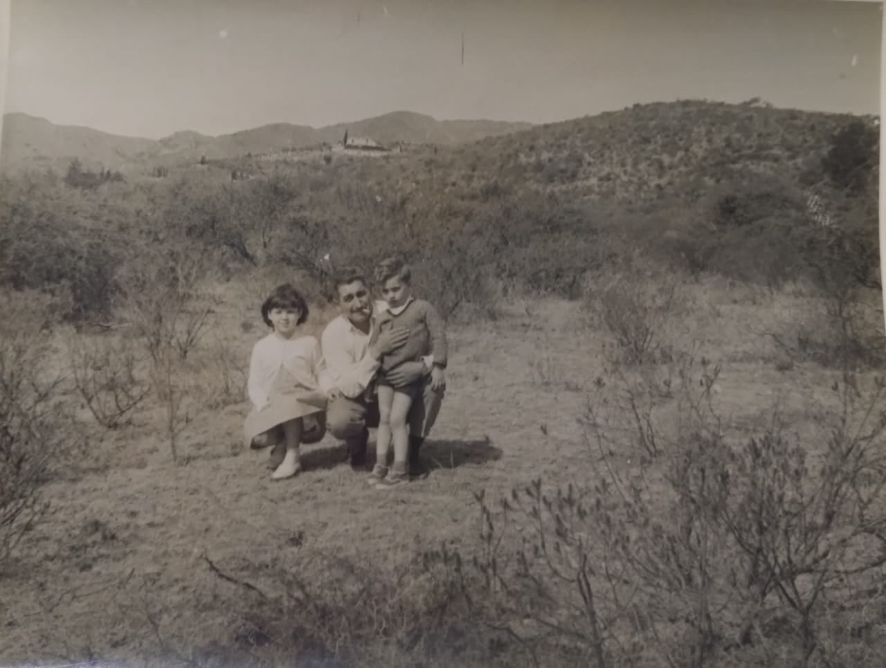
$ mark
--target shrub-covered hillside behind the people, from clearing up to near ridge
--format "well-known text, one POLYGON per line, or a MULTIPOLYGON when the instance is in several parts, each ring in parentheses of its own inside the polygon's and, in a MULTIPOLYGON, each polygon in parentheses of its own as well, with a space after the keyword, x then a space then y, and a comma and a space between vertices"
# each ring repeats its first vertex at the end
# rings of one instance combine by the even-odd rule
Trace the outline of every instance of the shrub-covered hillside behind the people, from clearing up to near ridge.
POLYGON ((78 317, 107 315, 119 269, 165 245, 213 253, 228 275, 288 266, 317 291, 341 262, 404 252, 449 313, 513 291, 576 297, 638 254, 770 285, 835 271, 875 285, 878 140, 869 119, 688 101, 374 159, 125 179, 78 164, 75 179, 5 178, 2 280, 64 285, 78 317))

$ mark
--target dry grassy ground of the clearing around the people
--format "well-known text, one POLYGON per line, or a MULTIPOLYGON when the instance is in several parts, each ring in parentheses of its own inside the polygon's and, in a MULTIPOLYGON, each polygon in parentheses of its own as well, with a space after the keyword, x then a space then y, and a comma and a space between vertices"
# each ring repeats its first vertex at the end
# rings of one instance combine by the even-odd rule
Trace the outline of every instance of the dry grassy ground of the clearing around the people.
MULTIPOLYGON (((688 315, 664 334, 677 351, 694 347, 696 357, 721 365, 717 400, 729 428, 758 430, 777 400, 797 431, 812 429, 815 405, 835 400, 837 374, 785 361, 759 333, 796 322, 785 314, 802 311, 803 298, 718 279, 684 290, 688 315)), ((298 478, 271 482, 267 453, 240 442, 242 385, 234 383, 236 402, 206 402, 225 374, 242 381, 237 373, 263 334, 253 292, 217 291, 214 330, 189 362, 196 389, 180 437, 183 465, 170 460, 159 409, 146 405, 116 431, 90 427, 82 470, 48 485, 51 515, 0 579, 0 664, 167 664, 212 647, 224 653, 250 628, 260 595, 217 571, 268 595, 286 564, 307 579, 342 558, 391 571, 443 540, 473 548, 481 490, 497 498, 531 478, 566 484, 595 475, 579 417, 595 379, 612 377, 609 335, 585 302, 525 300, 501 306, 494 321, 453 325, 447 399, 424 451, 428 478, 371 489, 327 437, 304 448, 298 478), (221 344, 235 353, 227 370, 217 369, 218 348, 210 347, 221 344)), ((319 334, 331 315, 313 314, 308 330, 319 334)), ((664 382, 672 366, 630 373, 664 382)), ((395 657, 375 661, 393 665, 395 657)))

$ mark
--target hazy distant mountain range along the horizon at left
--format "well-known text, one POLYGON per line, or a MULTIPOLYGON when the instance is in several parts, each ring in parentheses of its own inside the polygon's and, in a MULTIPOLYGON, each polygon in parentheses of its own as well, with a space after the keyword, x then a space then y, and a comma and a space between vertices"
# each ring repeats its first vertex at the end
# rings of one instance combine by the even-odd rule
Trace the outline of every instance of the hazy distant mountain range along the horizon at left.
POLYGON ((230 135, 206 136, 184 130, 159 140, 112 135, 93 128, 56 125, 26 113, 4 115, 0 168, 66 169, 74 158, 90 168, 104 167, 126 172, 137 167, 171 165, 206 159, 236 158, 340 142, 349 136, 366 136, 380 144, 428 143, 465 144, 490 136, 501 136, 532 128, 530 123, 496 120, 436 120, 412 112, 310 128, 274 123, 241 130, 230 135))

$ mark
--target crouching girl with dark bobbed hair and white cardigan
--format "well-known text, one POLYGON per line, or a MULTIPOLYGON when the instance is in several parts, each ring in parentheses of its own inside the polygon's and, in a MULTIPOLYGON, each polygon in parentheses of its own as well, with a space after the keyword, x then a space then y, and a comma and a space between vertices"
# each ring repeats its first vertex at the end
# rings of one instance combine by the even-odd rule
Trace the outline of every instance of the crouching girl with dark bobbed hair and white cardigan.
POLYGON ((299 336, 307 302, 290 284, 265 299, 261 319, 273 331, 253 346, 246 385, 253 409, 244 436, 253 449, 274 446, 271 479, 281 480, 301 470, 301 444, 325 434, 326 394, 318 384, 323 357, 316 338, 299 336))

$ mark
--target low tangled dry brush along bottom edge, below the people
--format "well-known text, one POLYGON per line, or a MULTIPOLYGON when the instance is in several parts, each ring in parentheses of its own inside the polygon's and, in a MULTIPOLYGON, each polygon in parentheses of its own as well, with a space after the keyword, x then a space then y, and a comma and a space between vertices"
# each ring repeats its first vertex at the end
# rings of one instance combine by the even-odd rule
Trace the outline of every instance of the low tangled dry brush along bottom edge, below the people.
MULTIPOLYGON (((293 538, 304 540, 300 533, 293 538)), ((435 659, 447 664, 470 649, 453 582, 417 561, 400 563, 396 572, 379 571, 303 548, 296 563, 248 564, 266 583, 207 555, 202 559, 237 592, 244 617, 238 644, 260 660, 287 656, 312 665, 405 668, 435 659), (323 563, 322 571, 312 568, 316 563, 323 563)))

